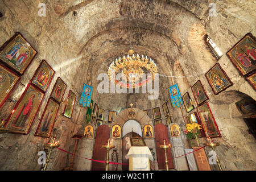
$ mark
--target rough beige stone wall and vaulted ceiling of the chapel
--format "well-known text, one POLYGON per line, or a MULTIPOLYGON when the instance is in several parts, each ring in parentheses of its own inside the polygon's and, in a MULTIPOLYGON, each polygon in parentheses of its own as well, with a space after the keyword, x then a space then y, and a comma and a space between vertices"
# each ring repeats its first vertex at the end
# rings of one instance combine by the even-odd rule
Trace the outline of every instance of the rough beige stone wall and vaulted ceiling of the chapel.
MULTIPOLYGON (((240 93, 254 100, 256 93, 225 55, 225 52, 247 32, 256 35, 253 7, 254 1, 234 0, 0 0, 0 11, 3 14, 0 18, 0 45, 19 31, 38 51, 38 55, 9 99, 0 108, 0 118, 7 118, 13 110, 42 59, 47 60, 56 71, 30 133, 26 136, 0 134, 0 169, 40 169, 37 164, 37 152, 42 150, 48 139, 34 137, 34 133, 58 76, 68 85, 64 98, 67 98, 69 89, 75 92, 78 98, 82 92, 82 84, 92 85, 95 88, 94 103, 105 109, 104 121, 108 120, 109 110, 119 112, 133 103, 138 109, 148 110, 150 118, 152 108, 159 106, 165 123, 162 105, 167 102, 172 113, 172 121, 178 123, 181 130, 185 127, 183 115, 179 108, 171 106, 168 86, 177 83, 181 94, 188 91, 193 97, 191 86, 200 79, 223 136, 218 138, 222 145, 217 148, 222 166, 228 170, 255 169, 255 139, 248 133, 247 126, 234 103, 242 98, 240 93), (46 3, 46 17, 38 16, 38 4, 41 2, 46 3), (208 16, 208 5, 211 2, 217 5, 216 17, 208 16), (74 11, 77 13, 76 16, 74 11), (158 65, 159 73, 171 76, 160 76, 158 100, 147 100, 148 94, 99 94, 96 91, 100 82, 97 80, 98 74, 105 73, 116 57, 129 51, 129 20, 131 43, 135 53, 152 57, 158 65), (205 34, 208 34, 224 53, 218 63, 234 83, 218 96, 213 94, 204 76, 204 72, 216 63, 203 40, 205 34), (179 77, 188 75, 194 76, 179 77), (8 158, 5 157, 7 154, 8 158)), ((72 152, 75 140, 71 137, 73 134, 83 133, 86 109, 82 108, 77 118, 80 107, 76 104, 72 119, 61 115, 63 109, 64 105, 61 104, 55 122, 58 129, 57 138, 60 140, 61 148, 72 152)), ((184 108, 183 113, 184 117, 188 115, 184 108)), ((185 147, 189 147, 184 134, 181 135, 185 147)), ((82 151, 77 152, 81 154, 82 151)), ((70 159, 70 155, 55 150, 48 169, 63 169, 70 159)))

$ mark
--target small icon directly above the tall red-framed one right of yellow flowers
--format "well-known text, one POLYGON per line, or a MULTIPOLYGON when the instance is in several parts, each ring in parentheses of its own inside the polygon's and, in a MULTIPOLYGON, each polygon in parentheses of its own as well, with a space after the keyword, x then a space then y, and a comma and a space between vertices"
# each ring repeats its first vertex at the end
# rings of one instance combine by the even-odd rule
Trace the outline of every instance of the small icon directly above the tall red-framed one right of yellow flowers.
POLYGON ((207 101, 209 99, 200 80, 197 81, 191 89, 196 99, 197 105, 201 105, 204 101, 207 101))

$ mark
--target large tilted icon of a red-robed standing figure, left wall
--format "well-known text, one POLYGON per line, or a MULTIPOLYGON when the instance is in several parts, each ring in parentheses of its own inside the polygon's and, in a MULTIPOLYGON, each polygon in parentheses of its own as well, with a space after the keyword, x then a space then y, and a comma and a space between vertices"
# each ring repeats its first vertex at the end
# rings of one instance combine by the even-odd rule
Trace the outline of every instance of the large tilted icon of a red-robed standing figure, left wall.
POLYGON ((31 84, 27 85, 14 106, 14 112, 7 119, 7 127, 12 130, 11 133, 28 134, 43 97, 44 93, 42 91, 31 84))

